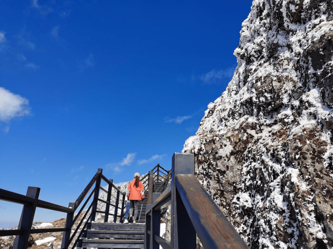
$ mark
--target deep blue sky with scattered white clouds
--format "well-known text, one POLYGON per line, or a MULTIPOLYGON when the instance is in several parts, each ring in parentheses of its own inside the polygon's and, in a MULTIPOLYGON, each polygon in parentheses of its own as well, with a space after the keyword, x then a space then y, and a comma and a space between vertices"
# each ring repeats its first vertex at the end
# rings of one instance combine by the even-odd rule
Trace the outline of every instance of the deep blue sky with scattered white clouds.
MULTIPOLYGON (((98 168, 146 174, 236 67, 251 1, 0 0, 0 188, 68 206, 98 168)), ((21 205, 0 201, 0 227, 21 205)), ((64 216, 36 212, 35 221, 64 216)))

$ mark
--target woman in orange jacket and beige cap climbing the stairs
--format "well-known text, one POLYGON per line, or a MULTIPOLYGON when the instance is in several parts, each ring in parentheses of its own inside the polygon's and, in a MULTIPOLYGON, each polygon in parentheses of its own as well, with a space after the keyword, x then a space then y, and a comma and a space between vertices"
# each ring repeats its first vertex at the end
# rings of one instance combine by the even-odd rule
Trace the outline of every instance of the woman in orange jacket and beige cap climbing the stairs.
POLYGON ((133 218, 133 224, 137 223, 136 219, 138 216, 139 202, 142 199, 145 199, 144 185, 139 180, 139 177, 140 174, 135 173, 134 180, 131 181, 127 187, 127 190, 129 191, 129 194, 127 194, 127 198, 130 199, 130 218, 128 219, 128 221, 131 222, 133 218), (132 215, 133 209, 134 209, 134 215, 132 215))

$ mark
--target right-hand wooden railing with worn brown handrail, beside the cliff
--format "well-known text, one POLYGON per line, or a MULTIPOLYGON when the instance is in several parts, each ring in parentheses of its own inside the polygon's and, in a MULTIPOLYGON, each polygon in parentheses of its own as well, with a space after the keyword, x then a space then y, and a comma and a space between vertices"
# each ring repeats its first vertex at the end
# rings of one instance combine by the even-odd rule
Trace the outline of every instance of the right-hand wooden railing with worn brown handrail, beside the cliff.
POLYGON ((171 172, 171 184, 162 194, 149 191, 144 248, 195 249, 197 235, 203 248, 248 249, 196 179, 194 155, 174 153, 171 172), (171 241, 160 236, 161 210, 169 205, 171 241))

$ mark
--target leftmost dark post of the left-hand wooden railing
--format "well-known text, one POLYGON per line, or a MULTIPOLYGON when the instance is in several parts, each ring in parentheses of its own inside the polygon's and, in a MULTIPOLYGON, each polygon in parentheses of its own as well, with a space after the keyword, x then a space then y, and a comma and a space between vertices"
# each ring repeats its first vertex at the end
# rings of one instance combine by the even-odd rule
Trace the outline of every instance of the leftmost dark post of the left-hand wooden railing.
POLYGON ((26 249, 28 247, 28 240, 32 222, 34 221, 39 192, 40 188, 28 187, 26 196, 34 198, 35 201, 30 205, 23 205, 19 226, 17 228, 23 230, 23 234, 15 237, 13 249, 26 249))

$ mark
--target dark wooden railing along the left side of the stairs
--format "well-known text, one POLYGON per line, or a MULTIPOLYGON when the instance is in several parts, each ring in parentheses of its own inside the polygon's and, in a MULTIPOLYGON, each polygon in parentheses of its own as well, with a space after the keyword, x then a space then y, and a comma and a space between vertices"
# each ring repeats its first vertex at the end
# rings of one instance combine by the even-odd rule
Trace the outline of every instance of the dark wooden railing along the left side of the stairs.
POLYGON ((14 192, 10 192, 4 189, 0 189, 0 200, 14 202, 18 204, 23 204, 22 214, 20 218, 20 222, 18 225, 18 229, 16 230, 0 230, 0 236, 14 236, 15 241, 13 245, 13 249, 26 249, 28 245, 28 239, 30 234, 34 233, 48 233, 48 232, 64 232, 63 240, 62 240, 62 249, 67 249, 73 242, 74 238, 77 236, 77 232, 80 230, 80 233, 77 236, 72 248, 74 248, 78 244, 78 240, 82 233, 85 231, 85 228, 89 221, 95 221, 96 213, 104 214, 104 222, 108 222, 109 215, 114 217, 113 222, 117 221, 117 218, 120 218, 120 222, 123 219, 124 212, 124 203, 125 203, 125 193, 120 191, 120 187, 116 187, 113 184, 113 180, 108 180, 103 174, 102 169, 98 169, 95 176, 88 183, 87 187, 81 193, 79 198, 74 203, 69 203, 68 207, 59 206, 53 203, 45 202, 39 200, 40 188, 37 187, 28 187, 27 194, 21 195, 14 192), (108 184, 108 190, 105 190, 101 187, 101 180, 105 181, 108 184), (94 186, 95 184, 95 186, 94 186), (94 188, 93 188, 94 186, 94 188), (80 208, 79 212, 75 215, 74 213, 77 208, 81 205, 81 203, 85 200, 85 197, 89 193, 89 191, 93 188, 90 195, 86 199, 85 203, 80 208), (116 196, 112 194, 112 190, 115 190, 116 196), (107 200, 104 201, 99 199, 99 190, 102 190, 107 193, 107 200), (91 197, 93 200, 91 201, 88 209, 85 210, 83 214, 84 208, 87 206, 91 197), (115 198, 115 203, 110 203, 111 197, 115 198), (97 203, 102 202, 105 203, 105 210, 97 210, 97 203), (119 207, 121 204, 121 207, 119 207), (113 213, 110 212, 110 206, 115 208, 113 213), (65 227, 64 228, 43 228, 43 229, 32 229, 32 223, 34 220, 36 207, 51 209, 55 211, 60 211, 67 213, 65 227), (121 210, 121 215, 118 215, 118 209, 121 210), (83 214, 83 215, 81 215, 83 214), (89 216, 88 216, 89 215, 89 216), (86 219, 86 217, 88 218, 86 219), (75 227, 74 224, 80 219, 79 224, 75 227), (85 223, 83 223, 86 220, 85 223), (82 227, 83 225, 83 227, 82 227), (75 231, 71 233, 72 230, 75 231))

